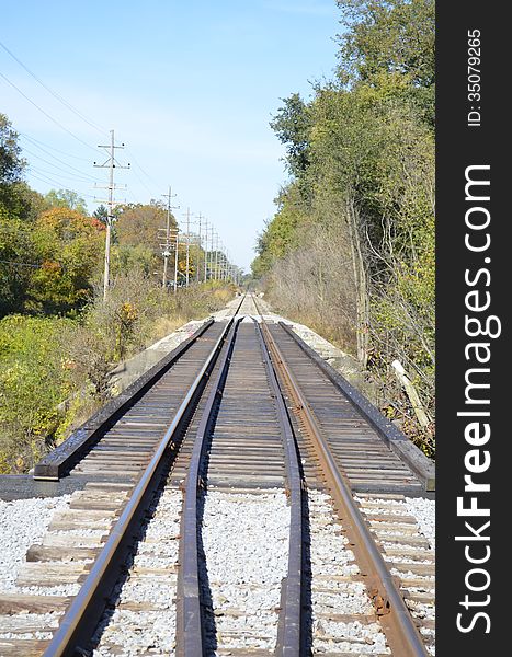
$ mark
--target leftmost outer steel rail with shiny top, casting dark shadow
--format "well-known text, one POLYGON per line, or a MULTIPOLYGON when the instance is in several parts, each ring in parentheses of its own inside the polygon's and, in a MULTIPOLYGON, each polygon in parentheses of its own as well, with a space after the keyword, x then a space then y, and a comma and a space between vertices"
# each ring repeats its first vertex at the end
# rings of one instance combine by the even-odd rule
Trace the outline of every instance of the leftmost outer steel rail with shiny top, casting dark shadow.
MULTIPOLYGON (((237 312, 240 307, 241 302, 237 312)), ((113 584, 111 580, 113 578, 113 565, 115 564, 116 556, 118 556, 122 546, 124 546, 125 541, 128 539, 130 528, 134 527, 134 523, 140 516, 144 500, 147 498, 148 494, 152 494, 153 492, 151 484, 155 482, 163 454, 177 433, 177 429, 190 412, 191 404, 193 403, 201 384, 204 382, 205 377, 209 374, 209 370, 223 347, 224 339, 230 330, 232 322, 234 316, 231 316, 226 324, 226 327, 201 368, 200 373, 189 389, 172 423, 169 425, 163 438, 156 449, 151 461, 138 480, 120 519, 115 523, 103 549, 98 555, 91 572, 87 576, 80 591, 73 598, 57 632, 54 634, 44 653, 44 657, 68 657, 76 655, 79 649, 82 649, 80 643, 90 639, 91 627, 94 627, 98 623, 105 606, 106 599, 104 589, 113 584)), ((117 575, 117 573, 115 573, 115 575, 117 575)))

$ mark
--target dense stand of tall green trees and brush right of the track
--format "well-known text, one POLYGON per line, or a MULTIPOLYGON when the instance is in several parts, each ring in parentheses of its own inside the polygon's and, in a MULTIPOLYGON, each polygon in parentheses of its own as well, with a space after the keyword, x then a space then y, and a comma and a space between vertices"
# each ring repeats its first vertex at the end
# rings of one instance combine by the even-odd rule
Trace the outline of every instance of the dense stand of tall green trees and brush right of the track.
MULTIPOLYGON (((407 406, 389 379, 398 358, 433 416, 433 2, 338 4, 338 79, 308 103, 289 96, 271 124, 292 182, 252 268, 282 312, 357 355, 392 413, 407 406)), ((429 431, 409 433, 432 453, 429 431)))

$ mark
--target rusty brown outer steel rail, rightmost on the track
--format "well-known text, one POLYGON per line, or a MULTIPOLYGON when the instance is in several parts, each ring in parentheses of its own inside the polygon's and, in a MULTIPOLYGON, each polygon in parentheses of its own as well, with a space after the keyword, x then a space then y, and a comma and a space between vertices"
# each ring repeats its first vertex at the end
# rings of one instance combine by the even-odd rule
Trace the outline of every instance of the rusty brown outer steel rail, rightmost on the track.
POLYGON ((379 615, 394 657, 428 657, 429 653, 421 635, 353 499, 350 484, 340 472, 318 422, 270 331, 269 347, 273 356, 274 367, 282 376, 289 392, 289 397, 314 441, 326 474, 328 488, 334 499, 340 519, 342 519, 351 549, 355 553, 362 574, 366 578, 366 588, 374 602, 377 615, 379 615))

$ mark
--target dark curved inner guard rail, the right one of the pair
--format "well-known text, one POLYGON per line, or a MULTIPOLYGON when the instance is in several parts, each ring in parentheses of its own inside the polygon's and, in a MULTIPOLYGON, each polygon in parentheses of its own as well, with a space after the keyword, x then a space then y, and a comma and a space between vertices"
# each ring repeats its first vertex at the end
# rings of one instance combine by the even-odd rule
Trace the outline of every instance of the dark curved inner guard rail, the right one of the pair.
MULTIPOLYGON (((255 306, 255 304, 254 304, 255 306)), ((288 412, 283 400, 281 388, 272 366, 265 335, 269 332, 265 322, 254 323, 258 328, 261 351, 266 368, 272 394, 277 406, 280 429, 283 437, 285 466, 289 493, 289 538, 288 569, 282 585, 281 614, 277 630, 276 657, 298 657, 303 654, 304 636, 301 632, 303 608, 303 480, 297 457, 297 445, 289 422, 288 412)))

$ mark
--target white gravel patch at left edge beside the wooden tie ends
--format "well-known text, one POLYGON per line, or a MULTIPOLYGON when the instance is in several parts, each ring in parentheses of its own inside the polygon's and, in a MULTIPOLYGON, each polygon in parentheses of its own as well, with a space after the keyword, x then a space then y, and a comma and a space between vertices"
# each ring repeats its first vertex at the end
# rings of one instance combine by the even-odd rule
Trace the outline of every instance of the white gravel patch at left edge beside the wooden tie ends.
POLYGON ((16 590, 15 580, 29 548, 41 543, 52 517, 69 506, 70 495, 0 500, 0 593, 16 590))

